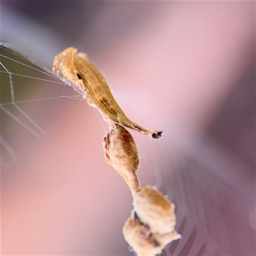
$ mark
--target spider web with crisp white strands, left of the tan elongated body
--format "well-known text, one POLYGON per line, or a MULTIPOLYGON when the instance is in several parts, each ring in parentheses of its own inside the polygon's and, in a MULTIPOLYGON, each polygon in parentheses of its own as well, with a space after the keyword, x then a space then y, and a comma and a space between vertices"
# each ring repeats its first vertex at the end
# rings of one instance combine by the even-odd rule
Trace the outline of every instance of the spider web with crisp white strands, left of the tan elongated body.
POLYGON ((8 44, 0 44, 0 60, 1 168, 4 169, 17 159, 22 148, 43 136, 49 125, 60 119, 61 108, 67 113, 68 100, 74 108, 82 97, 49 69, 39 67, 8 44))

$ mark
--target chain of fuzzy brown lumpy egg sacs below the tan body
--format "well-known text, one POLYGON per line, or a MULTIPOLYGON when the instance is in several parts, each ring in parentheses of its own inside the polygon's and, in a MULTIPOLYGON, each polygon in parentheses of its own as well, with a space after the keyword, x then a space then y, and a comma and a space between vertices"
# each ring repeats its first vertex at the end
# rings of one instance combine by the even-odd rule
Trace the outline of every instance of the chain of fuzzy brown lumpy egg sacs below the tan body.
POLYGON ((175 205, 150 186, 140 187, 138 149, 132 135, 119 124, 102 141, 107 163, 124 177, 132 192, 134 211, 125 222, 125 240, 138 255, 156 255, 181 236, 175 230, 175 205))

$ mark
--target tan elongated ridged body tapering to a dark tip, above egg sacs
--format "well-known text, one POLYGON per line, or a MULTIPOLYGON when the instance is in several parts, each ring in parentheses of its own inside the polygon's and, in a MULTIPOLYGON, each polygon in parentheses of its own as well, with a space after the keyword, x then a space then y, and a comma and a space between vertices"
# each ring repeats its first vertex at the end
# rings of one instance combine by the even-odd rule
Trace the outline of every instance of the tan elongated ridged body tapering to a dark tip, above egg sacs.
POLYGON ((86 97, 90 106, 99 109, 114 122, 147 134, 150 138, 161 138, 162 132, 148 131, 125 116, 106 80, 83 52, 77 54, 74 47, 65 49, 54 58, 52 73, 72 83, 75 90, 86 97))

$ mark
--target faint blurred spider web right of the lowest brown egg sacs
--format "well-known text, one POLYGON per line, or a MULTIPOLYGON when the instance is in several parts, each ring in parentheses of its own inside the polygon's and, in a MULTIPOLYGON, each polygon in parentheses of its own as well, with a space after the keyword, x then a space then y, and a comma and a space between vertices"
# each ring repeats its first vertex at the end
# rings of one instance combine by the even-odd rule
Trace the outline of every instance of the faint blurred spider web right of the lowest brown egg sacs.
POLYGON ((182 153, 165 144, 156 152, 148 153, 148 166, 155 168, 156 187, 175 204, 182 234, 163 255, 253 255, 255 177, 246 177, 248 169, 212 143, 182 153))

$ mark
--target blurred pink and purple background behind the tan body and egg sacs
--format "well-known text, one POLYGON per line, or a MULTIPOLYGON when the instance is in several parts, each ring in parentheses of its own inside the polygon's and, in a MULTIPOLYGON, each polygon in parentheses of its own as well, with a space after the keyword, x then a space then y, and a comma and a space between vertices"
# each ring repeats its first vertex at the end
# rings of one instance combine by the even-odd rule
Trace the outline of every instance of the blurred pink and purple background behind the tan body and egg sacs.
MULTIPOLYGON (((255 255, 254 2, 0 4, 1 40, 50 69, 67 47, 87 52, 127 116, 164 131, 131 131, 141 185, 176 205, 182 239, 163 255, 255 255)), ((1 253, 132 255, 132 198, 104 160, 108 127, 84 100, 34 101, 60 96, 56 84, 25 83, 16 101, 33 101, 17 106, 46 132, 30 139, 1 109, 1 253)), ((3 88, 2 76, 1 104, 3 88)))

